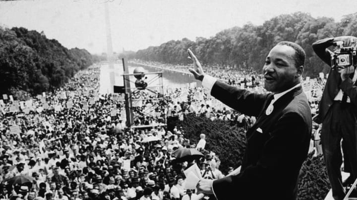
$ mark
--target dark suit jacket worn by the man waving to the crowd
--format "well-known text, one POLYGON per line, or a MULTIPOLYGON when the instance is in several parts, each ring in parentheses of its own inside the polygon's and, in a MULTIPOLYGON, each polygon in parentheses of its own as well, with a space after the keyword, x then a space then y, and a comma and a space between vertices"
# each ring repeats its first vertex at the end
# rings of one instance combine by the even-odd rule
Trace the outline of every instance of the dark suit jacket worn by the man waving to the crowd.
POLYGON ((217 199, 295 200, 312 129, 310 107, 301 86, 276 100, 268 116, 265 110, 273 94, 255 94, 220 81, 216 81, 211 94, 231 108, 257 117, 246 132, 240 173, 213 182, 217 199))

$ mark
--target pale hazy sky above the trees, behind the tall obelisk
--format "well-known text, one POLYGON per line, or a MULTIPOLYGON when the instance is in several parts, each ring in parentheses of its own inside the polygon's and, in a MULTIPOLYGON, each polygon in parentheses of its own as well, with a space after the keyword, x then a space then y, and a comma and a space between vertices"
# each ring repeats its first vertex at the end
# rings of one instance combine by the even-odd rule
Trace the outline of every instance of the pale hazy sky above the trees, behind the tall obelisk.
MULTIPOLYGON (((106 51, 106 0, 0 1, 0 24, 44 31, 67 48, 106 51)), ((209 38, 247 22, 296 11, 341 20, 357 0, 109 0, 113 50, 138 50, 168 40, 209 38)))

